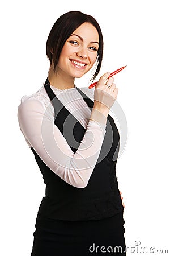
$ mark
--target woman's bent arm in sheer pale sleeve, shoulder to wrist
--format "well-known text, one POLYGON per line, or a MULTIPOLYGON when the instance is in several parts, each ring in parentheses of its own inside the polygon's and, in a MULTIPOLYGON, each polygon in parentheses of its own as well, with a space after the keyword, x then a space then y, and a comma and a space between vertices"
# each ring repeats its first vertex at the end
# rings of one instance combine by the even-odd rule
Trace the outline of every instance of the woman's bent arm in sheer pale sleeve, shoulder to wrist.
POLYGON ((18 107, 20 129, 29 146, 55 174, 78 188, 87 186, 99 158, 106 125, 97 122, 98 117, 98 111, 96 115, 92 113, 86 133, 74 154, 41 101, 29 98, 18 107))

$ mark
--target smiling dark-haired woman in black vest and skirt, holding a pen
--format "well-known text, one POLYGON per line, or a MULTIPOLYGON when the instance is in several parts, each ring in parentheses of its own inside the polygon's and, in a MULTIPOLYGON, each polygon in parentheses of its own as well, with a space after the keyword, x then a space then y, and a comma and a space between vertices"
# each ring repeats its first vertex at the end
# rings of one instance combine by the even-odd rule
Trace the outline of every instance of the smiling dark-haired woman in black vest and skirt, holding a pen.
POLYGON ((45 84, 18 107, 20 129, 46 184, 31 256, 125 255, 117 252, 125 250, 116 177, 120 137, 109 115, 118 89, 109 72, 95 89, 74 84, 94 64, 92 81, 100 71, 99 24, 79 11, 63 14, 50 31, 46 53, 45 84))

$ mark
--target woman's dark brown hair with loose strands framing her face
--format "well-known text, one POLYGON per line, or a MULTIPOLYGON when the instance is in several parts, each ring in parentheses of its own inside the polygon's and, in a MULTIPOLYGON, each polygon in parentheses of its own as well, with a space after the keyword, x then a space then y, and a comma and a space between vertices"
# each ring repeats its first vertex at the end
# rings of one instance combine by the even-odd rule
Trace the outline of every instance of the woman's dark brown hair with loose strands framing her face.
POLYGON ((92 77, 92 81, 95 80, 96 76, 99 74, 101 68, 101 62, 103 59, 103 35, 101 32, 101 28, 97 23, 96 19, 91 15, 84 14, 80 11, 69 11, 61 15, 57 21, 54 23, 47 42, 46 42, 46 55, 52 64, 54 63, 54 72, 57 72, 57 64, 59 60, 59 56, 61 54, 63 45, 66 40, 70 37, 71 34, 82 25, 84 22, 91 23, 97 30, 99 34, 99 49, 97 51, 97 67, 92 77))

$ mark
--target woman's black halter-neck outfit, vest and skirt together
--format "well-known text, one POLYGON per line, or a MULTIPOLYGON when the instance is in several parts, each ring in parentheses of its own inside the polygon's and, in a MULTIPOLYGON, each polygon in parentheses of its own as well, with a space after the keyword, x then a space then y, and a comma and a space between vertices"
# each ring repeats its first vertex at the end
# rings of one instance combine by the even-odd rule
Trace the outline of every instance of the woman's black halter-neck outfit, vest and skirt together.
MULTIPOLYGON (((63 135, 69 134, 72 130, 70 127, 73 126, 74 138, 80 143, 86 130, 55 96, 48 79, 45 89, 54 106, 56 126, 63 135), (66 127, 68 131, 63 133, 63 123, 68 116, 71 116, 70 127, 66 127)), ((90 98, 79 88, 76 89, 92 108, 90 98)), ((124 208, 116 177, 120 137, 110 115, 106 129, 100 161, 97 162, 86 188, 67 184, 31 148, 46 184, 46 195, 42 197, 37 213, 31 256, 126 255, 124 208), (110 150, 105 155, 108 145, 110 150)), ((69 135, 65 135, 65 138, 71 150, 76 152, 78 146, 71 146, 69 135)))

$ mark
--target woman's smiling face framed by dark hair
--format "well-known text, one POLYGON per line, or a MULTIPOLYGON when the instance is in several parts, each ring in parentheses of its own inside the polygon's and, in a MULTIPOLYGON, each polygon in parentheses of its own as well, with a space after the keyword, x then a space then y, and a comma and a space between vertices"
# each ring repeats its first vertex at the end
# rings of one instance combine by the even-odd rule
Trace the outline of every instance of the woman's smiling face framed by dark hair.
POLYGON ((57 65, 62 76, 82 77, 94 65, 99 49, 99 34, 91 23, 83 23, 66 40, 57 65))

